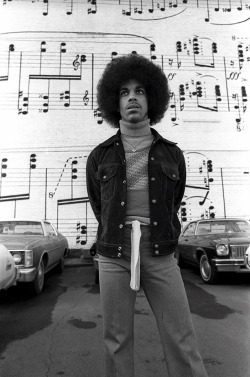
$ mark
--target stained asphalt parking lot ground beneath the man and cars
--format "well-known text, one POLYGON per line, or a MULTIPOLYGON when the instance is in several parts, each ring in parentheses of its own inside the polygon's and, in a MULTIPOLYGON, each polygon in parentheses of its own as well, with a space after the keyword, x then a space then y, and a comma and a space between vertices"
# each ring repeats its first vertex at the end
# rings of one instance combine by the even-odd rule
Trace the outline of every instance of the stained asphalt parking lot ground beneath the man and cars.
MULTIPOLYGON (((249 275, 206 285, 182 270, 198 343, 209 376, 249 377, 249 275)), ((102 314, 92 266, 50 272, 40 296, 20 287, 0 293, 0 375, 103 376, 102 314)), ((166 377, 161 343, 143 291, 135 310, 137 377, 166 377)))

